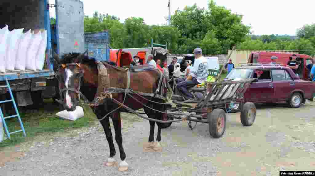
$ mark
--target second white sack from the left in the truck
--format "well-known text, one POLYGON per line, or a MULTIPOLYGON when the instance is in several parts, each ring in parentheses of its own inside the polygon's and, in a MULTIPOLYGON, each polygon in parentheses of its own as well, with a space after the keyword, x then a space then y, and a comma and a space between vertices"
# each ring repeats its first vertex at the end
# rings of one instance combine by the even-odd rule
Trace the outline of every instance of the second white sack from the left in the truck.
POLYGON ((23 29, 14 29, 10 31, 10 35, 7 39, 7 57, 6 57, 6 70, 13 71, 16 61, 16 52, 19 48, 19 39, 21 34, 23 33, 23 29))

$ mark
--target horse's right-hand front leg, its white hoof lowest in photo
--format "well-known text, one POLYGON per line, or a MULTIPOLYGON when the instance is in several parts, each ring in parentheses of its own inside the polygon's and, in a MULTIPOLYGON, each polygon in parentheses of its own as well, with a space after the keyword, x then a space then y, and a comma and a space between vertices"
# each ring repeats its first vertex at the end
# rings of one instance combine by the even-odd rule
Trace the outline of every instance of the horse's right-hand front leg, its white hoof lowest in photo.
POLYGON ((123 137, 121 134, 121 118, 120 118, 120 112, 114 112, 113 113, 113 124, 115 128, 115 139, 117 142, 117 145, 119 147, 119 152, 120 152, 120 159, 121 162, 119 163, 119 171, 126 171, 128 169, 128 163, 125 161, 126 159, 126 154, 125 151, 123 150, 123 137))

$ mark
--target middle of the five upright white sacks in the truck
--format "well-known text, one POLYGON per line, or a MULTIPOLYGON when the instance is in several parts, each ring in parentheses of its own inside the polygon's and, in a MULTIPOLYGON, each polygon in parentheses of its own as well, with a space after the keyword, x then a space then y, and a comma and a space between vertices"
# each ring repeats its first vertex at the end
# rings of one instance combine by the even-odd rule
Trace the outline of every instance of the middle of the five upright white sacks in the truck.
POLYGON ((14 67, 16 70, 25 70, 26 68, 26 53, 31 41, 31 37, 31 29, 25 34, 22 34, 20 37, 20 44, 16 52, 16 62, 14 67))

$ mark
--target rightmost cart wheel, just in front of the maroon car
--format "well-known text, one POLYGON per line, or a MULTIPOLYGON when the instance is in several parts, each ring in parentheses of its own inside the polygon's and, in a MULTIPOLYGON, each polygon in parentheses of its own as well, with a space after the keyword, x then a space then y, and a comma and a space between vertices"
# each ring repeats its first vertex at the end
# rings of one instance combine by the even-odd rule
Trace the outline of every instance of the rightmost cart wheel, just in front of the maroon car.
POLYGON ((252 102, 246 102, 241 111, 241 122, 243 126, 251 126, 255 122, 256 106, 252 102))

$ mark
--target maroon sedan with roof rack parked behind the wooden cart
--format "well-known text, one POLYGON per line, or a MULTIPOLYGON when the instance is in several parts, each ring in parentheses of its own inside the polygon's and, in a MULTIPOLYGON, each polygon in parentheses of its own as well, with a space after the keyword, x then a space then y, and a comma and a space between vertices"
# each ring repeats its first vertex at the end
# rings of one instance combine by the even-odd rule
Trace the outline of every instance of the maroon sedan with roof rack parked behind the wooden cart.
MULTIPOLYGON (((245 65, 234 68, 225 80, 258 78, 244 93, 244 102, 266 103, 286 101, 298 108, 306 99, 313 100, 315 82, 301 80, 294 72, 283 66, 271 64, 245 65)), ((237 109, 234 104, 232 109, 237 109)))

